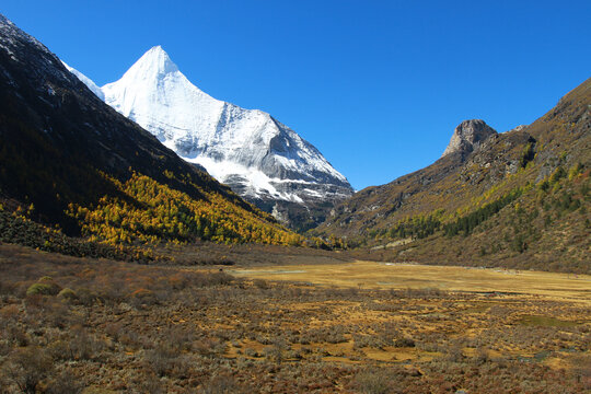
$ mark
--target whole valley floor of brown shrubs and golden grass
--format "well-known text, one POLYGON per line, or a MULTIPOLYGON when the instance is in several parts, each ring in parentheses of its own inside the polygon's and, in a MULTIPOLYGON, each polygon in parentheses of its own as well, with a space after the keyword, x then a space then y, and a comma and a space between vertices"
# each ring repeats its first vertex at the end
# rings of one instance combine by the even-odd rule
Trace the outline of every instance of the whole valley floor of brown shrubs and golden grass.
POLYGON ((589 277, 241 253, 230 275, 0 244, 0 393, 591 390, 589 277))

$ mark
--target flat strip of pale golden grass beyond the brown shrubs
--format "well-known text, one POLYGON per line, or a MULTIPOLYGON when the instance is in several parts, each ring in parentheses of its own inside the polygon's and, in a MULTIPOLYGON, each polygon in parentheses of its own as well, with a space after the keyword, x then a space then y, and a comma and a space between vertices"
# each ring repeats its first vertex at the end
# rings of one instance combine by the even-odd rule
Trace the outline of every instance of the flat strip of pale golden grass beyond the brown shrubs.
POLYGON ((376 262, 253 267, 230 273, 252 279, 340 288, 508 292, 591 304, 591 276, 588 275, 376 262))

